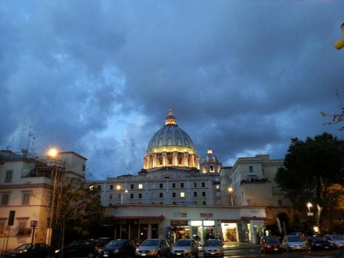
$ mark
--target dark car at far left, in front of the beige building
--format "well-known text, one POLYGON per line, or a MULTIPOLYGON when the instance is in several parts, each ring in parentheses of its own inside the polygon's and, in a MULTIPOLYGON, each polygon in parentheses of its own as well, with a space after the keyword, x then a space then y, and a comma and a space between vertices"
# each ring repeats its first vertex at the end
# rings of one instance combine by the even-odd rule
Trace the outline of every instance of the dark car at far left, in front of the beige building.
POLYGON ((51 258, 54 257, 55 250, 50 246, 47 246, 43 243, 36 243, 36 244, 22 244, 18 246, 14 250, 9 250, 1 254, 0 257, 4 258, 26 258, 26 257, 34 257, 34 258, 51 258))

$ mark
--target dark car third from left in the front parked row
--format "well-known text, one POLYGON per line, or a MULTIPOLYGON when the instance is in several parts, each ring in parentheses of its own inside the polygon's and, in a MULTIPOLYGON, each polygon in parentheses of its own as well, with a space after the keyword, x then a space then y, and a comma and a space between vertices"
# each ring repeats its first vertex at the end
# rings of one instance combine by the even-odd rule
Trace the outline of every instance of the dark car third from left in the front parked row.
POLYGON ((111 240, 102 253, 102 257, 135 257, 136 245, 129 239, 111 240))

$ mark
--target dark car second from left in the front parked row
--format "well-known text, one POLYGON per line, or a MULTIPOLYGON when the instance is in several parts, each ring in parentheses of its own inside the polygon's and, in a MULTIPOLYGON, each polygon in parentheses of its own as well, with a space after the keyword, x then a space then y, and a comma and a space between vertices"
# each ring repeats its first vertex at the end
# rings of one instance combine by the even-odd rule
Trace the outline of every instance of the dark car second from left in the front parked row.
MULTIPOLYGON (((63 258, 88 257, 94 258, 98 255, 97 243, 91 240, 76 240, 63 248, 63 258)), ((61 249, 56 250, 56 257, 61 257, 61 249)))

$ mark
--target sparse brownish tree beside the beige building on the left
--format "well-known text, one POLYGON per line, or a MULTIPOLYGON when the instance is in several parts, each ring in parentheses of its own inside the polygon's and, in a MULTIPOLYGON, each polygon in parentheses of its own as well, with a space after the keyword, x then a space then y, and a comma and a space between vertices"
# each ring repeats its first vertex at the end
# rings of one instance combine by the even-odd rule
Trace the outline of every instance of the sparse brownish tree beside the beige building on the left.
POLYGON ((97 189, 83 186, 76 178, 61 178, 54 220, 54 244, 61 246, 65 216, 65 243, 76 238, 93 237, 103 224, 103 207, 97 189))

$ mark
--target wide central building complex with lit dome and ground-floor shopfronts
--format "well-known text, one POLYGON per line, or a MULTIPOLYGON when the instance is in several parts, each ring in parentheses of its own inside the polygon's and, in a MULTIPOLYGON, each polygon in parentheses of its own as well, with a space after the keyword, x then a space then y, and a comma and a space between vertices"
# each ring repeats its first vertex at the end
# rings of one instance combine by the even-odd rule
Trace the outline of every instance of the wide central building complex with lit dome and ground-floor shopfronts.
POLYGON ((204 241, 213 235, 224 241, 256 243, 257 233, 272 220, 266 216, 265 205, 275 201, 277 205, 280 196, 277 189, 270 193, 254 187, 250 191, 250 185, 259 184, 246 184, 244 180, 253 178, 258 182, 261 178, 264 187, 275 187, 269 180, 283 163, 269 160, 268 155, 258 157, 241 158, 233 167, 222 167, 213 149, 208 149, 200 162, 191 137, 178 127, 169 109, 165 125, 149 141, 138 175, 120 175, 89 184, 101 193, 115 238, 160 237, 175 241, 197 235, 204 241), (244 166, 248 163, 254 172, 259 167, 261 173, 255 173, 255 177, 241 175, 246 173, 244 166), (228 192, 229 187, 232 192, 228 192), (261 193, 259 197, 254 198, 254 191, 261 193), (247 202, 248 198, 252 201, 247 202))

